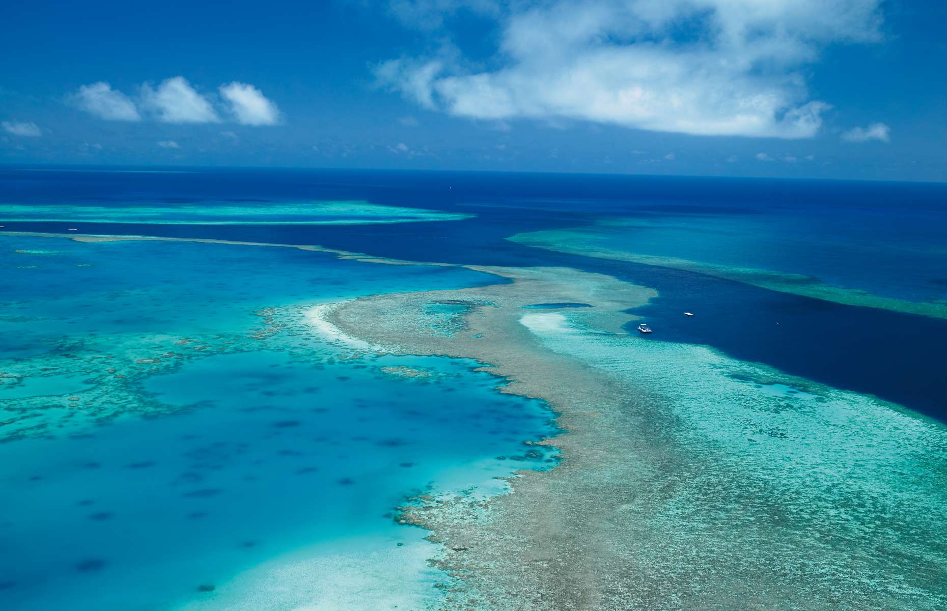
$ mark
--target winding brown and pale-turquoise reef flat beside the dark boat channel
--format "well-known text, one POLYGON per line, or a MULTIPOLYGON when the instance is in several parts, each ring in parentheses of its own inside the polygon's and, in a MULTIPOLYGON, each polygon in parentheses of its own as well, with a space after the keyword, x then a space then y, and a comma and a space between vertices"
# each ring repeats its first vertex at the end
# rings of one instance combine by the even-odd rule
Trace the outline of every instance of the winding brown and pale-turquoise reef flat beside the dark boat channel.
POLYGON ((630 337, 653 293, 569 269, 363 297, 329 319, 405 353, 473 357, 545 398, 563 463, 488 502, 405 508, 465 584, 446 609, 939 609, 947 431, 897 406, 630 337), (583 310, 524 311, 581 301, 583 310), (430 302, 466 302, 434 332, 430 302), (782 386, 779 386, 782 385, 782 386), (779 388, 793 390, 780 391, 779 388))

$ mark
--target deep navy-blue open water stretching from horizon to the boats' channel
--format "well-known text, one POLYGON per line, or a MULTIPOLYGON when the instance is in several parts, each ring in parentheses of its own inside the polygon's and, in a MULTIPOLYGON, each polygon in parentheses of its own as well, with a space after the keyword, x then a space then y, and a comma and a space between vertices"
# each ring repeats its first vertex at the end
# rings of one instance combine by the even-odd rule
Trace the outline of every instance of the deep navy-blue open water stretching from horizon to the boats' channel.
MULTIPOLYGON (((194 226, 72 224, 84 233, 211 237, 271 243, 319 243, 416 261, 507 265, 568 265, 652 286, 661 294, 646 309, 653 339, 701 343, 831 386, 873 393, 947 419, 947 320, 840 306, 723 279, 620 261, 562 255, 504 240, 515 233, 590 225, 639 215, 686 218, 699 226, 714 215, 738 231, 762 226, 809 232, 807 240, 849 252, 883 233, 871 257, 846 256, 826 279, 864 279, 866 289, 890 286, 911 297, 942 295, 947 267, 947 187, 864 183, 600 175, 484 174, 398 171, 200 170, 191 173, 0 171, 0 199, 61 204, 205 200, 288 201, 364 199, 376 204, 475 213, 466 221, 358 226, 194 226), (825 217, 829 224, 809 223, 825 217), (815 215, 815 211, 820 211, 815 215), (838 220, 848 221, 840 223, 838 220), (849 227, 847 229, 846 227, 849 227), (821 232, 821 234, 820 234, 821 232), (880 233, 882 232, 882 233, 880 233), (824 239, 818 239, 823 235, 824 239), (857 244, 855 244, 857 245, 857 244), (912 264, 919 249, 923 264, 912 264), (907 254, 905 254, 907 252, 907 254), (935 259, 932 260, 932 257, 935 259), (931 262, 935 261, 935 262, 931 262), (842 269, 840 266, 844 266, 842 269), (696 305, 695 305, 696 304, 696 305), (684 310, 700 311, 685 318, 684 310), (777 323, 779 323, 777 325, 777 323)), ((0 223, 7 230, 65 231, 63 224, 0 223)), ((700 236, 699 232, 694 234, 700 236)), ((760 258, 756 241, 747 264, 760 258)), ((696 247, 695 247, 696 248, 696 247)), ((691 256, 706 254, 706 248, 691 256)), ((673 255, 673 252, 669 254, 673 255)), ((729 261, 739 250, 726 253, 729 261)), ((811 252, 765 253, 788 271, 813 267, 811 252), (796 269, 798 268, 798 269, 796 269)), ((815 261, 818 262, 818 261, 815 261)), ((758 263, 759 264, 759 263, 758 263)), ((862 287, 856 287, 862 288, 862 287)))

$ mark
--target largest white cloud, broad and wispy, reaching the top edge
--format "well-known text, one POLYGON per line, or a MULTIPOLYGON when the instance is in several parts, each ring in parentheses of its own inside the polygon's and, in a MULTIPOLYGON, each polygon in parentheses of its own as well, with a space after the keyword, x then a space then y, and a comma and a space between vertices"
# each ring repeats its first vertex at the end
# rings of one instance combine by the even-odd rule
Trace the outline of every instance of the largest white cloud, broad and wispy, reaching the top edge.
MULTIPOLYGON (((396 4, 414 15, 443 3, 396 4)), ((880 38, 879 0, 486 4, 482 14, 495 15, 500 30, 491 60, 499 67, 478 71, 441 45, 432 57, 381 63, 379 81, 456 117, 800 138, 815 135, 830 108, 808 99, 805 66, 825 45, 880 38)))

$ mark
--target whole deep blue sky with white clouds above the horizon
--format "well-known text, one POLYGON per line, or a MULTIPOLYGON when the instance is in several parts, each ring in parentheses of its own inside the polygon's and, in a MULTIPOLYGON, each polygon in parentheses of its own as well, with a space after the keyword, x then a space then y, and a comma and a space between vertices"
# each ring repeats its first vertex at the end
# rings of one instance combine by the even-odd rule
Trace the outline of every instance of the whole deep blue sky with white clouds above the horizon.
POLYGON ((947 181, 943 0, 0 5, 0 164, 947 181))

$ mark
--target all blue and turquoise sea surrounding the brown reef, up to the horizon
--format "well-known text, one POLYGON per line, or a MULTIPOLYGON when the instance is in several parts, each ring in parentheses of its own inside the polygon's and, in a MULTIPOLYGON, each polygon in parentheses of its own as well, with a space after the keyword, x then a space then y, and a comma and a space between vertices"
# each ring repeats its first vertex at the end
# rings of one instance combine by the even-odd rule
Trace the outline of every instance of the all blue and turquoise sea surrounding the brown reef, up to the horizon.
MULTIPOLYGON (((493 267, 655 290, 627 305, 627 339, 570 328, 595 310, 581 298, 516 315, 545 321, 533 332, 544 350, 641 386, 648 422, 674 422, 660 431, 669 447, 723 465, 714 481, 759 486, 814 442, 837 446, 809 465, 829 474, 818 486, 849 473, 884 492, 900 484, 882 465, 914 456, 900 473, 924 483, 884 515, 947 566, 910 513, 944 510, 944 185, 120 170, 0 170, 4 606, 437 605, 456 575, 428 564, 436 545, 398 508, 491 498, 517 470, 555 472, 555 442, 535 441, 563 431, 542 398, 496 392, 507 381, 484 363, 400 355, 319 313, 511 281, 493 267), (755 408, 774 402, 789 411, 755 408)), ((497 305, 442 299, 425 332, 469 337, 472 307, 497 305)), ((814 499, 798 524, 848 502, 810 494, 805 473, 776 487, 814 499)))

